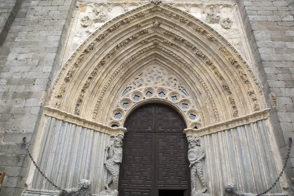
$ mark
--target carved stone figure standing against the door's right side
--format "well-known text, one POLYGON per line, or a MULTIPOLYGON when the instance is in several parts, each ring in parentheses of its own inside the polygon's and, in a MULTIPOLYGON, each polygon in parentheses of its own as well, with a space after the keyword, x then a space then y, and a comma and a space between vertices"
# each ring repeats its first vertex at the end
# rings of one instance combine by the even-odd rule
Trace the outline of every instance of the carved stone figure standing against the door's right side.
POLYGON ((201 195, 207 190, 206 182, 204 180, 203 172, 202 172, 202 159, 204 158, 204 149, 200 147, 199 136, 189 136, 188 143, 190 144, 188 150, 188 159, 190 161, 191 168, 191 181, 192 181, 192 196, 201 195), (203 185, 202 190, 196 190, 196 174, 199 176, 201 183, 203 185))

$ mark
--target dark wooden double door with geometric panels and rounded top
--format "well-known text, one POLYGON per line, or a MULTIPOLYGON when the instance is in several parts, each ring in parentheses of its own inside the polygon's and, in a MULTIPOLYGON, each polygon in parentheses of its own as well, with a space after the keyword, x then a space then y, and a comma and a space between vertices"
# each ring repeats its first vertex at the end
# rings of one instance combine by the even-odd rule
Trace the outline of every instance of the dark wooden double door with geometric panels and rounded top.
POLYGON ((172 108, 145 105, 125 122, 120 196, 188 196, 190 169, 186 124, 172 108), (168 194, 170 195, 170 194, 168 194))

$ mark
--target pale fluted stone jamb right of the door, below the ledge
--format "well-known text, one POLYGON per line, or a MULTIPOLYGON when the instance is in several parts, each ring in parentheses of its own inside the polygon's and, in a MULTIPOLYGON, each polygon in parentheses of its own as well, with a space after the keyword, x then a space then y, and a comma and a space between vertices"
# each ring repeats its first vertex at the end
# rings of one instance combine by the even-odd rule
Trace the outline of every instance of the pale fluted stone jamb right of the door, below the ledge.
MULTIPOLYGON (((267 123, 258 121, 202 137, 203 171, 210 194, 220 195, 226 182, 255 194, 271 186, 279 171, 267 123)), ((271 193, 282 193, 280 183, 271 193)))

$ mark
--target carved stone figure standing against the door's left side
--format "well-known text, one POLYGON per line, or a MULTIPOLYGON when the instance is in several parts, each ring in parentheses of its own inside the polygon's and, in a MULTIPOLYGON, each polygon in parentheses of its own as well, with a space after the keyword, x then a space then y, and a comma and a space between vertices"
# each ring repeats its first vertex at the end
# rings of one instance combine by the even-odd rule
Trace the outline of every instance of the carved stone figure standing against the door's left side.
POLYGON ((118 193, 118 180, 119 180, 119 169, 120 163, 123 160, 123 136, 119 135, 115 137, 114 143, 111 146, 105 148, 105 167, 111 173, 105 184, 106 192, 111 193, 112 190, 109 188, 109 184, 113 182, 115 194, 118 193))

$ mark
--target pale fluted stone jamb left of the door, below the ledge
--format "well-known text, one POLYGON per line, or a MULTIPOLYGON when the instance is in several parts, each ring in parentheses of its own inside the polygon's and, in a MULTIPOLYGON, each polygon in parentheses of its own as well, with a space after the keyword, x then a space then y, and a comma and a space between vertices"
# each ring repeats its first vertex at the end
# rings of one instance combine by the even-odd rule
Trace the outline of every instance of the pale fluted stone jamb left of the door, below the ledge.
MULTIPOLYGON (((38 165, 61 188, 76 187, 78 180, 93 181, 93 194, 104 188, 105 147, 110 135, 48 117, 38 165)), ((35 171, 33 190, 55 190, 35 171)))

